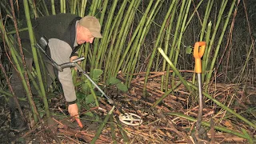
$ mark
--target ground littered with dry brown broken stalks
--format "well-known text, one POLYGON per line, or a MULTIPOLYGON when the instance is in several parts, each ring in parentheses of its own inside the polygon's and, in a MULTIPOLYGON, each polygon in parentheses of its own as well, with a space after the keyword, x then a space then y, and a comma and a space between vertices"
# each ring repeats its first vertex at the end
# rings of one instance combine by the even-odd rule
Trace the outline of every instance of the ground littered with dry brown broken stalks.
MULTIPOLYGON (((119 77, 122 79, 122 77, 119 77)), ((120 93, 116 89, 106 90, 107 94, 118 104, 122 110, 142 116, 140 126, 126 126, 118 122, 118 111, 114 111, 113 119, 107 122, 96 143, 194 143, 197 137, 194 134, 196 122, 178 117, 171 112, 186 114, 197 118, 198 104, 191 103, 191 95, 185 91, 184 86, 179 86, 173 94, 169 94, 158 106, 150 109, 163 92, 159 91, 161 78, 155 77, 148 83, 148 96, 142 97, 143 78, 137 78, 132 82, 132 88, 128 93, 120 93), (111 128, 112 126, 112 128, 111 128)), ((256 87, 237 84, 215 83, 210 90, 211 96, 222 102, 230 109, 255 123, 256 87)), ((2 101, 3 102, 3 101, 2 101)), ((203 126, 206 143, 247 143, 245 138, 228 134, 220 130, 214 130, 213 126, 224 126, 229 130, 241 133, 245 129, 250 136, 256 134, 256 130, 245 122, 234 117, 233 114, 223 110, 210 100, 206 100, 203 110, 204 122, 210 122, 210 126, 203 126)), ((36 125, 33 129, 26 130, 22 134, 15 134, 9 129, 10 114, 6 105, 1 105, 1 130, 0 143, 88 143, 94 138, 98 127, 102 124, 107 112, 112 106, 105 99, 100 100, 100 108, 91 107, 90 110, 81 110, 81 119, 84 127, 81 129, 77 123, 67 117, 66 105, 62 94, 53 98, 50 103, 50 111, 53 112, 54 124, 51 126, 36 125), (89 117, 90 111, 94 117, 89 117), (96 116, 96 117, 95 117, 96 116), (55 127, 55 128, 54 128, 55 127), (52 130, 51 130, 52 129, 52 130)), ((29 120, 30 113, 26 113, 29 120)), ((46 121, 44 119, 44 121, 46 121)), ((31 121, 30 121, 31 124, 31 121)), ((197 142, 195 142, 197 143, 197 142)))

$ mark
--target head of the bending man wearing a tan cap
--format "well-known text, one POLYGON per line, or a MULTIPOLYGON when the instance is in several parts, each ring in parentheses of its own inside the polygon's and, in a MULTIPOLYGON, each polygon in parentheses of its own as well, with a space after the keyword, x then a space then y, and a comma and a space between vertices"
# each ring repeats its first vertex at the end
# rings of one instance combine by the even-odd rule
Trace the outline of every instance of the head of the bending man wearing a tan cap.
POLYGON ((102 38, 101 25, 97 18, 85 16, 80 19, 77 26, 77 42, 81 45, 84 42, 92 43, 94 38, 102 38))

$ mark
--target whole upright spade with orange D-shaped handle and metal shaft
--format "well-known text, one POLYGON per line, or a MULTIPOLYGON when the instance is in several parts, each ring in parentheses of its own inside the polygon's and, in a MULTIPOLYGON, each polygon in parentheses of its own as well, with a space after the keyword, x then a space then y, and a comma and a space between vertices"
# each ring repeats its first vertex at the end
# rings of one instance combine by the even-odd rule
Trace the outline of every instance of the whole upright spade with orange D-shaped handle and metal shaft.
POLYGON ((200 130, 202 123, 202 64, 201 58, 205 52, 206 42, 196 42, 194 44, 194 60, 195 60, 195 73, 198 75, 198 94, 199 94, 199 108, 198 108, 198 122, 197 130, 200 130), (201 46, 199 50, 199 46, 201 46))

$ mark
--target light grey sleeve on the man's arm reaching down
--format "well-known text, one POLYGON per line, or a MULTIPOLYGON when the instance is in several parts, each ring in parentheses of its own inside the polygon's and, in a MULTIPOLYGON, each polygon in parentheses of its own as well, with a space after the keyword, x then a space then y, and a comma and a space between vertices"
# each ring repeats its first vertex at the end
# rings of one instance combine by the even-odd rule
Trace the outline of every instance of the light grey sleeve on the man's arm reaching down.
MULTIPOLYGON (((49 48, 51 58, 57 62, 58 65, 70 62, 72 49, 68 43, 57 38, 51 38, 49 39, 49 48)), ((66 102, 74 102, 76 100, 76 95, 70 68, 58 72, 58 79, 62 84, 66 102)))

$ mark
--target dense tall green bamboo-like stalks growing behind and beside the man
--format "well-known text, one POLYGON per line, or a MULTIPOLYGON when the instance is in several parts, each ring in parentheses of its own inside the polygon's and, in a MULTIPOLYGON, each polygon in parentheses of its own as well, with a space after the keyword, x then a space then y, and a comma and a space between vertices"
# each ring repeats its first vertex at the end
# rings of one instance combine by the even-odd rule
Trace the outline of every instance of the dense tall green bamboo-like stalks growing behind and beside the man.
MULTIPOLYGON (((149 96, 146 92, 146 86, 148 80, 152 78, 152 72, 162 71, 166 73, 161 78, 161 90, 166 92, 162 99, 182 84, 191 97, 194 97, 192 99, 195 101, 197 96, 195 74, 187 76, 179 70, 194 70, 191 47, 194 46, 194 42, 205 41, 206 51, 202 58, 204 94, 207 98, 216 102, 217 105, 225 107, 224 109, 256 128, 254 123, 242 118, 241 115, 236 114, 207 94, 215 77, 214 74, 217 73, 216 70, 224 66, 222 62, 229 62, 225 58, 222 60, 224 56, 222 52, 226 46, 226 43, 224 43, 226 37, 234 28, 238 6, 242 5, 240 0, 219 2, 206 0, 23 0, 23 2, 14 3, 14 6, 7 4, 9 2, 6 0, 2 0, 0 3, 1 40, 5 47, 2 52, 6 51, 10 54, 9 57, 13 59, 11 64, 15 66, 22 78, 30 106, 34 107, 32 110, 34 110, 33 114, 36 120, 40 117, 38 117, 34 99, 30 92, 29 79, 43 99, 46 115, 50 116, 44 80, 46 71, 41 71, 39 68, 42 59, 35 48, 32 48, 35 63, 34 70, 32 72, 26 70, 22 47, 19 45, 20 51, 14 49, 14 42, 20 42, 13 35, 18 34, 18 31, 28 30, 31 46, 34 47, 31 18, 71 13, 78 14, 81 17, 93 15, 102 24, 103 38, 95 39, 93 45, 84 44, 79 50, 79 55, 86 57, 86 60, 81 64, 84 70, 88 72, 95 69, 103 70, 101 82, 106 82, 113 77, 116 78, 118 74, 122 73, 126 76, 125 84, 128 88, 131 87, 131 82, 136 73, 145 72, 145 80, 142 86, 144 97, 149 96), (21 7, 24 12, 19 11, 21 7), (16 18, 14 17, 15 14, 18 15, 16 18), (20 27, 19 23, 25 20, 27 27, 20 27), (167 62, 166 58, 163 58, 162 54, 158 52, 159 47, 162 48, 170 62, 167 62), (34 82, 35 76, 39 83, 34 82)), ((247 52, 244 54, 247 60, 252 55, 255 57, 254 41, 251 40, 249 45, 245 47, 247 52)), ((241 63, 240 61, 244 68, 240 71, 241 76, 236 78, 236 82, 242 82, 242 76, 246 74, 246 62, 241 63)), ((252 71, 255 72, 255 63, 253 65, 252 71)), ((72 74, 76 86, 82 86, 81 79, 85 78, 77 78, 75 71, 72 74)), ((1 83, 6 82, 4 79, 1 79, 1 83)), ((0 93, 7 96, 13 95, 9 88, 3 86, 3 84, 1 85, 0 93)), ((155 102, 154 106, 158 105, 162 99, 155 102)))

